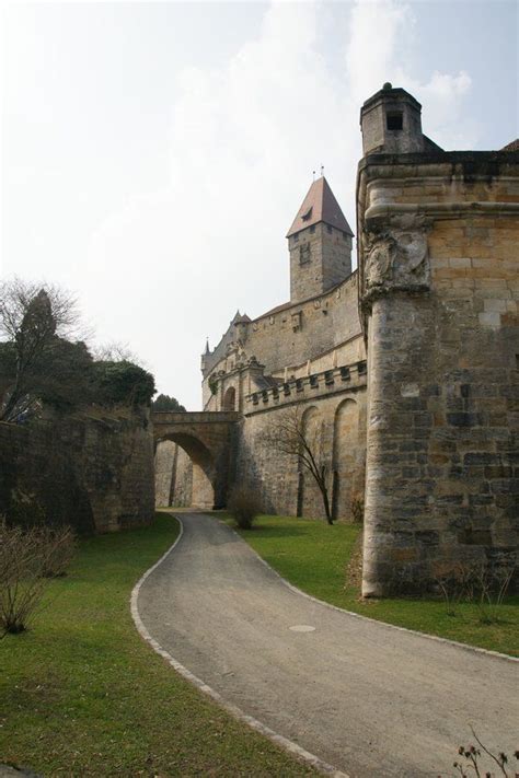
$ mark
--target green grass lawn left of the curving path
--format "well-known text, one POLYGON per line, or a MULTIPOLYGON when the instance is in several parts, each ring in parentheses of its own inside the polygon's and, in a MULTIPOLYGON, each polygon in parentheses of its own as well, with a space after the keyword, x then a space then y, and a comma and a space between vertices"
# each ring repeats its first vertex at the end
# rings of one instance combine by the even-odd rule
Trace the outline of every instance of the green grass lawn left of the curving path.
POLYGON ((0 762, 44 776, 304 776, 140 638, 134 584, 177 522, 81 543, 32 628, 0 640, 0 762))

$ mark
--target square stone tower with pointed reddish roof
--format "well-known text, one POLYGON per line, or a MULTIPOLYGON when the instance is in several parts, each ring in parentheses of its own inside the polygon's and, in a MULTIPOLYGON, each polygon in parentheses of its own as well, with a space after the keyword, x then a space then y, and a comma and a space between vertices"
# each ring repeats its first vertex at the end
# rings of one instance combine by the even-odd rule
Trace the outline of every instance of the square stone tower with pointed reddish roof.
POLYGON ((290 302, 316 297, 351 274, 351 229, 322 176, 314 181, 287 233, 290 302))

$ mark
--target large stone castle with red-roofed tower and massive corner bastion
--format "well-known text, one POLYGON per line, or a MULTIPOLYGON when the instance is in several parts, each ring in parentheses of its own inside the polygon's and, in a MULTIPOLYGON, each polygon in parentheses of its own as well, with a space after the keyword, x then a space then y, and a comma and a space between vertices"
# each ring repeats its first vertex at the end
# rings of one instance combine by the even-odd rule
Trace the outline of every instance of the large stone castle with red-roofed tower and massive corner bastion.
POLYGON ((519 144, 446 152, 420 112, 391 84, 366 101, 358 270, 321 177, 287 233, 289 302, 237 313, 203 355, 204 411, 164 426, 157 452, 161 504, 223 504, 247 481, 269 512, 321 516, 312 477, 264 443, 300 406, 322 431, 333 515, 365 499, 366 596, 518 550, 519 144), (228 426, 218 466, 211 420, 228 426))

